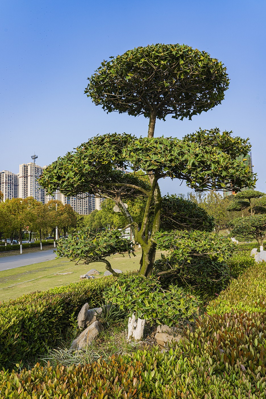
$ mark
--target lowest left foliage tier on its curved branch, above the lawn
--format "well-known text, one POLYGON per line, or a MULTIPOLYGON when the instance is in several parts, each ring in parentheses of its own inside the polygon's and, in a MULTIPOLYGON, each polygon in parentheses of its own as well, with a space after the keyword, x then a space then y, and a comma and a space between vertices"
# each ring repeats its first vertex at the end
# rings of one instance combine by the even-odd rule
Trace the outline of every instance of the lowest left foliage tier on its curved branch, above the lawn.
POLYGON ((133 243, 121 237, 121 231, 105 231, 104 234, 93 234, 89 229, 82 229, 78 233, 72 233, 67 239, 60 239, 57 242, 57 258, 67 257, 76 265, 89 265, 89 263, 103 262, 105 268, 113 275, 110 262, 106 259, 114 253, 134 254, 133 243))

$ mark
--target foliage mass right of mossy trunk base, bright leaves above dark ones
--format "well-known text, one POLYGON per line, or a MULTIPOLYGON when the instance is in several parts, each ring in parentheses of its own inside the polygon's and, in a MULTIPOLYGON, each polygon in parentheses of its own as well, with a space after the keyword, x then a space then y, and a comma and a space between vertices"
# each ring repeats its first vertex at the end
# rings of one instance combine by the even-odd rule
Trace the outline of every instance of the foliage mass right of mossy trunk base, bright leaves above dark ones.
POLYGON ((164 284, 175 282, 204 298, 225 288, 230 278, 226 261, 236 247, 231 240, 198 230, 161 232, 155 239, 159 249, 169 251, 154 265, 164 284))

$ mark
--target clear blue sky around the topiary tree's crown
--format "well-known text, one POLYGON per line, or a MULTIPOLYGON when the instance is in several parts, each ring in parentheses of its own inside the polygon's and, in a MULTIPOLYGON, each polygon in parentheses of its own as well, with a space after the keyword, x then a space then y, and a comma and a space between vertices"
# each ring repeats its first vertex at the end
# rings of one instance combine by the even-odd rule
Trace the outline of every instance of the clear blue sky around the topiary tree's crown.
MULTIPOLYGON (((103 59, 151 43, 185 43, 227 67, 221 105, 189 120, 157 121, 155 135, 199 127, 233 130, 252 144, 257 189, 266 192, 264 0, 2 0, 0 170, 18 172, 34 152, 50 164, 95 134, 146 135, 148 120, 106 114, 83 94, 103 59)), ((163 181, 165 194, 186 186, 163 181)))

